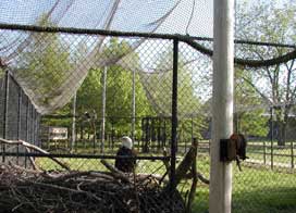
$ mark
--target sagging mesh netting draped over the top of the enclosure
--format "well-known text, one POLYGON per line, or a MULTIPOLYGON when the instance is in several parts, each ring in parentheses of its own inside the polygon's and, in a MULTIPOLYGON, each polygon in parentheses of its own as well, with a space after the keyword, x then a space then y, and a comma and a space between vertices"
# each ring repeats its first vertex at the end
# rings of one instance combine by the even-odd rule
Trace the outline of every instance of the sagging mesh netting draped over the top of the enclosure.
MULTIPOLYGON (((264 18, 267 14, 274 13, 270 17, 271 21, 279 20, 280 12, 283 10, 282 7, 287 5, 285 3, 287 2, 281 2, 276 7, 261 3, 262 5, 260 4, 260 7, 264 10, 263 13, 260 13, 261 18, 264 18)), ((212 24, 209 24, 212 23, 212 15, 210 15, 212 14, 211 4, 211 1, 193 1, 193 4, 185 3, 185 1, 148 1, 145 3, 132 3, 130 1, 110 1, 104 3, 22 1, 18 4, 7 2, 1 8, 4 11, 2 14, 5 15, 1 15, 0 22, 34 26, 83 27, 144 32, 149 34, 165 32, 169 34, 178 33, 185 35, 187 33, 195 36, 211 36, 212 24), (146 14, 147 12, 149 14, 146 14), (139 20, 140 22, 138 22, 139 20), (207 25, 203 24, 206 20, 207 25), (193 33, 190 33, 190 29, 193 33), (195 32, 195 29, 200 32, 195 32)), ((292 10, 288 12, 286 18, 293 18, 293 2, 289 5, 292 10)), ((262 34, 260 41, 293 42, 289 39, 293 30, 288 30, 292 23, 287 23, 287 26, 283 25, 279 27, 279 30, 282 32, 282 37, 276 40, 276 38, 267 33, 272 29, 266 29, 266 33, 260 30, 262 23, 260 24, 260 21, 256 22, 254 20, 257 17, 257 13, 251 12, 251 10, 256 5, 242 1, 237 3, 236 8, 236 37, 238 39, 249 39, 257 34, 262 34)), ((280 23, 279 26, 281 26, 280 23)), ((161 54, 163 55, 162 58, 166 57, 169 59, 170 41, 166 40, 156 41, 146 38, 128 38, 120 40, 115 45, 122 49, 121 52, 111 53, 110 51, 115 46, 112 47, 112 38, 106 36, 1 30, 1 39, 3 41, 0 47, 2 63, 9 64, 17 73, 15 74, 17 80, 25 88, 25 92, 30 97, 37 110, 42 114, 50 113, 66 104, 91 67, 102 70, 110 64, 120 64, 126 70, 140 73, 138 74, 141 75, 140 79, 145 78, 143 77, 143 73, 145 73, 146 77, 149 78, 145 84, 153 84, 152 78, 155 77, 152 76, 156 76, 156 74, 158 74, 157 76, 163 75, 161 78, 164 79, 165 75, 169 75, 169 71, 172 71, 172 63, 166 59, 159 58, 161 54), (143 54, 146 57, 143 58, 143 54), (149 60, 146 59, 147 55, 149 55, 149 60), (25 71, 28 71, 30 75, 27 75, 25 71), (152 73, 153 75, 151 75, 152 73), (44 76, 47 76, 47 79, 44 76)), ((184 48, 184 52, 186 51, 186 53, 182 55, 180 63, 184 64, 182 66, 195 67, 192 72, 195 73, 194 77, 196 79, 201 79, 201 83, 208 80, 208 75, 211 73, 211 65, 207 57, 211 55, 212 42, 197 41, 190 43, 190 46, 194 49, 190 50, 189 47, 185 46, 181 47, 181 52, 183 52, 182 49, 184 48), (198 53, 196 49, 205 57, 198 53)), ((249 66, 274 65, 282 62, 282 60, 273 61, 273 63, 268 60, 278 59, 283 55, 292 59, 293 55, 288 54, 292 50, 293 46, 279 49, 279 46, 258 47, 250 46, 248 42, 239 43, 236 46, 236 61, 238 64, 249 66), (245 62, 244 60, 248 61, 245 62), (266 63, 261 62, 260 64, 252 60, 266 60, 266 63)), ((259 72, 257 73, 259 74, 259 72)), ((200 84, 200 82, 194 83, 194 87, 198 87, 199 90, 199 86, 205 85, 200 84)), ((149 90, 149 86, 145 85, 145 88, 149 90)), ((207 93, 210 95, 211 92, 207 91, 207 93)), ((155 106, 157 105, 159 103, 155 101, 155 106)), ((168 109, 161 109, 160 112, 168 114, 168 109)), ((190 112, 186 112, 185 114, 188 113, 190 112)))

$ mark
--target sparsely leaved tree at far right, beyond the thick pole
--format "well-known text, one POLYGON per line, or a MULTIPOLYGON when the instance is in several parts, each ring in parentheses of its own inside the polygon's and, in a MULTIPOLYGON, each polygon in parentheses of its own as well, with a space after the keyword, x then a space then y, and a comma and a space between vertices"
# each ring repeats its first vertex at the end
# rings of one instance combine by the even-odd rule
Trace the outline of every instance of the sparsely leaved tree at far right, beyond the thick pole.
MULTIPOLYGON (((295 43, 295 2, 258 1, 252 5, 243 2, 237 12, 237 35, 243 39, 295 43)), ((245 57, 259 60, 269 59, 271 55, 283 55, 289 51, 281 47, 258 46, 248 46, 240 50, 246 54, 245 57)), ((274 106, 280 133, 279 145, 284 145, 288 114, 296 98, 295 60, 285 64, 245 72, 250 73, 250 77, 243 76, 244 80, 260 95, 262 100, 274 106)))

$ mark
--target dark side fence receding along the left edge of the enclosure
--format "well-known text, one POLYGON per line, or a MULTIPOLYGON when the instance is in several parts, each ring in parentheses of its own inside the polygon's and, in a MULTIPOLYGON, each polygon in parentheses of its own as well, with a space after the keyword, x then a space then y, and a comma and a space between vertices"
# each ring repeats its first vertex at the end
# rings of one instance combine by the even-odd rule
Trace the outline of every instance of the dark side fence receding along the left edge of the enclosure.
MULTIPOLYGON (((38 138, 40 114, 8 70, 0 79, 0 137, 16 143, 23 140, 40 146, 38 138)), ((12 161, 17 165, 27 166, 27 158, 18 156, 18 153, 26 152, 24 147, 1 145, 1 150, 2 162, 12 161), (5 156, 7 153, 16 153, 17 156, 11 159, 5 156)))

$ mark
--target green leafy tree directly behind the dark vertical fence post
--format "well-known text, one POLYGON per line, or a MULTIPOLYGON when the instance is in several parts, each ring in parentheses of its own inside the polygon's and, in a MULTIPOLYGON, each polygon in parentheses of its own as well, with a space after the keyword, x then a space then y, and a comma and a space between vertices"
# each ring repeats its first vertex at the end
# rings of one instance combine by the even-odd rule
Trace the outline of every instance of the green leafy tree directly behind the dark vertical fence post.
MULTIPOLYGON (((168 50, 156 61, 156 71, 143 74, 143 84, 153 111, 158 116, 171 116, 172 113, 172 64, 173 53, 168 50)), ((180 52, 177 71, 177 114, 178 135, 184 138, 200 137, 203 117, 200 116, 200 102, 194 88, 194 72, 186 66, 180 52), (193 121, 188 120, 193 118, 193 121), (194 129, 192 129, 194 125, 194 129)))

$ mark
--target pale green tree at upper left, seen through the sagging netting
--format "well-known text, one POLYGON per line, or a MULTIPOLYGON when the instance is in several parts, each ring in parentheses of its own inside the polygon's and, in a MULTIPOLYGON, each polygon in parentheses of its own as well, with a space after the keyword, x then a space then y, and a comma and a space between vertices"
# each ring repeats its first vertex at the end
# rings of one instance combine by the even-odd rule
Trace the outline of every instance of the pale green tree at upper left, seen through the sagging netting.
MULTIPOLYGON (((41 26, 52 26, 47 15, 41 26)), ((38 106, 48 106, 61 93, 60 88, 69 76, 72 64, 67 48, 58 34, 32 33, 24 49, 20 50, 20 68, 16 76, 38 106)))

